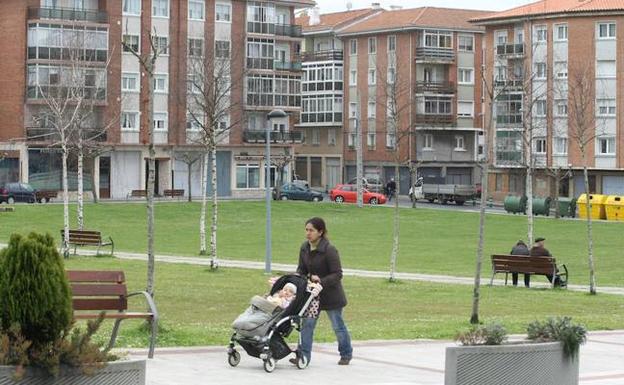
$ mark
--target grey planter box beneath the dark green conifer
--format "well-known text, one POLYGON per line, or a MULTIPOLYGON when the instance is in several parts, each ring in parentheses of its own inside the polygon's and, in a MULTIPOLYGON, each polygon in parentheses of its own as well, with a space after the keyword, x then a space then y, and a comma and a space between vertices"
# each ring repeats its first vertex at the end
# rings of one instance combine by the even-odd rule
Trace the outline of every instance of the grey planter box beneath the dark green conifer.
POLYGON ((0 366, 0 385, 145 385, 145 360, 109 362, 90 376, 76 368, 61 367, 58 377, 28 368, 22 380, 16 382, 13 373, 14 366, 0 366))

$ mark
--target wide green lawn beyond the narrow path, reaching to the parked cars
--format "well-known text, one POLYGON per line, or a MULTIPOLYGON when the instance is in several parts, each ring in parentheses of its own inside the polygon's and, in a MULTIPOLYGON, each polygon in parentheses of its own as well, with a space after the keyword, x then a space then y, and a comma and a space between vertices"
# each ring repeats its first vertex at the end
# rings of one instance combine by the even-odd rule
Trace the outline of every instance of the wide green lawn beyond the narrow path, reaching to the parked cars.
MULTIPOLYGON (((146 210, 142 203, 101 203, 85 206, 87 229, 111 235, 117 250, 145 252, 146 210)), ((156 206, 156 253, 197 255, 199 203, 161 203, 156 206)), ((265 207, 263 202, 226 201, 219 205, 218 244, 221 258, 264 260, 265 207)), ((387 270, 392 248, 392 213, 384 207, 357 209, 353 205, 274 202, 273 258, 296 263, 303 240, 304 221, 312 216, 327 220, 329 236, 340 251, 343 266, 387 270)), ((75 206, 71 207, 75 223, 75 206)), ((60 240, 62 205, 19 205, 0 213, 0 242, 12 232, 49 231, 60 240)), ((582 221, 538 217, 535 235, 547 238, 547 247, 570 269, 570 282, 587 284, 587 239, 582 221)), ((398 270, 472 276, 478 235, 478 214, 429 209, 401 210, 398 270)), ((489 255, 508 253, 526 238, 526 217, 488 215, 486 261, 489 255)), ((624 224, 594 224, 597 284, 624 286, 624 224)), ((535 278, 539 280, 539 278, 535 278)))

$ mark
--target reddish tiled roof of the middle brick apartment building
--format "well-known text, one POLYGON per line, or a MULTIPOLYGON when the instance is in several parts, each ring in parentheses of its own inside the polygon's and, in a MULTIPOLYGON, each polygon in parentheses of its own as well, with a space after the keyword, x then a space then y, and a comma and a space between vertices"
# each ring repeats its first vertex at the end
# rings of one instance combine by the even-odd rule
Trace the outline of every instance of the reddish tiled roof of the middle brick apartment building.
POLYGON ((490 14, 490 12, 436 7, 383 10, 379 14, 355 23, 339 32, 340 34, 355 34, 422 27, 481 30, 482 28, 471 24, 469 20, 487 14, 490 14))

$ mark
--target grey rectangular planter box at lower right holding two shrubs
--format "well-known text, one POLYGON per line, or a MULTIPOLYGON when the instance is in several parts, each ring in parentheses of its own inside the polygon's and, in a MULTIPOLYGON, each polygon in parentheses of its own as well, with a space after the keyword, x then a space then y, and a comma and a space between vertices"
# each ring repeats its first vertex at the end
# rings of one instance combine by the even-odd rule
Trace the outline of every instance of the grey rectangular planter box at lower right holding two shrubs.
POLYGON ((578 373, 560 342, 451 346, 444 385, 577 385, 578 373))

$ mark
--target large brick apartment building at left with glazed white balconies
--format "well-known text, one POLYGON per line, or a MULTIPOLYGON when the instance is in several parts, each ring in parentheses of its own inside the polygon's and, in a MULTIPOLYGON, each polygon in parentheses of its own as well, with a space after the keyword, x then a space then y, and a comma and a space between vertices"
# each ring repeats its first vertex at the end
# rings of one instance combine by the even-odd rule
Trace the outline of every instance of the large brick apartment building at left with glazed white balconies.
MULTIPOLYGON (((147 175, 147 78, 128 47, 149 52, 148 31, 162 52, 154 74, 156 194, 189 187, 199 195, 201 162, 191 168, 181 153, 199 151, 198 129, 188 118, 187 85, 195 74, 191 58, 229 62, 233 82, 230 127, 217 150, 218 194, 261 196, 264 189, 264 130, 267 113, 288 113, 271 127, 271 141, 291 148, 301 141, 292 127, 301 108, 301 65, 296 60, 301 28, 298 8, 310 0, 7 0, 0 2, 0 183, 21 180, 36 188, 60 189, 60 154, 46 125, 41 92, 63 88, 66 42, 81 41, 87 83, 94 86, 94 129, 106 152, 86 166, 86 188, 103 198, 125 198, 142 189, 147 175), (126 44, 122 46, 121 42, 126 44), (234 85, 236 84, 236 85, 234 85), (92 174, 92 175, 91 175, 92 174)), ((75 47, 74 47, 75 48, 75 47)), ((276 151, 279 152, 279 151, 276 151)), ((75 188, 75 157, 70 157, 70 189, 75 188)), ((275 183, 275 167, 271 168, 275 183)), ((286 176, 287 177, 287 176, 286 176)))

